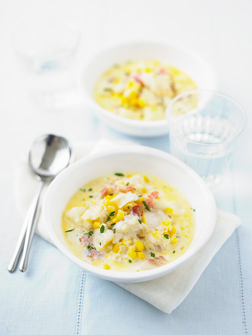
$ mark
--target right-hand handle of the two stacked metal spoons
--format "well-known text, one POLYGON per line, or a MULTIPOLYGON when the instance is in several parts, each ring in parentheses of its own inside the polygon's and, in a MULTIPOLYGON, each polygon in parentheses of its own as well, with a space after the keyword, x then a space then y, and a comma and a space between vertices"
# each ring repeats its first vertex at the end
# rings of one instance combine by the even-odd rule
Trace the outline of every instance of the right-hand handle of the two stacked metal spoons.
POLYGON ((28 226, 27 226, 27 231, 26 231, 26 237, 25 237, 25 241, 24 241, 24 247, 23 247, 23 254, 22 254, 22 258, 19 264, 19 270, 21 272, 26 271, 27 269, 27 265, 28 265, 28 258, 29 258, 29 253, 30 253, 30 249, 32 246, 32 241, 33 241, 33 237, 35 234, 35 230, 38 224, 38 218, 39 218, 39 198, 41 195, 41 192, 44 188, 45 183, 41 182, 41 186, 37 195, 37 201, 36 201, 36 205, 34 206, 34 210, 33 213, 31 213, 32 215, 30 216, 30 219, 28 221, 28 226))

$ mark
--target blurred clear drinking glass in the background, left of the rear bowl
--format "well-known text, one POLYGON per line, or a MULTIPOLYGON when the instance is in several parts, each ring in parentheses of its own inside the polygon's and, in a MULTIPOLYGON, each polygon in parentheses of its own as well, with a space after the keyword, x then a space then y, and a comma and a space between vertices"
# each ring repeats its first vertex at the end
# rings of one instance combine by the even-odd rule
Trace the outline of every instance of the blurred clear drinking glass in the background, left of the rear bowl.
POLYGON ((42 108, 61 108, 71 99, 80 38, 78 28, 64 20, 33 19, 16 27, 14 49, 30 95, 42 108))

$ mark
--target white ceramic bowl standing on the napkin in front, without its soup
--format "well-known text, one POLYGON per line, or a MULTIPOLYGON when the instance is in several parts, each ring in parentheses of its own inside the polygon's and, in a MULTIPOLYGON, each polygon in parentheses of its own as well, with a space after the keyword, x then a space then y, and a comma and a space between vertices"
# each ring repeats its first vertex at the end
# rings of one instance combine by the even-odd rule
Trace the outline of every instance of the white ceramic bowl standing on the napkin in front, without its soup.
POLYGON ((62 171, 51 183, 43 203, 43 217, 51 240, 84 270, 116 282, 139 282, 161 277, 196 254, 210 238, 216 223, 216 205, 205 182, 182 161, 158 149, 128 146, 89 155, 62 171), (195 208, 195 236, 183 256, 156 269, 139 272, 104 270, 74 256, 61 229, 62 212, 70 197, 85 183, 115 171, 139 171, 162 178, 179 189, 195 208))

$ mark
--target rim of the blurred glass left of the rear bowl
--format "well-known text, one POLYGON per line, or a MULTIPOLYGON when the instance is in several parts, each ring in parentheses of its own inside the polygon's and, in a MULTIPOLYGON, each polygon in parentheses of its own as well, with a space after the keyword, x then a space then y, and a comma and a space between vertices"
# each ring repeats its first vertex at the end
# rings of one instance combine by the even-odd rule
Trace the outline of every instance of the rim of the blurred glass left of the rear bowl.
MULTIPOLYGON (((68 20, 64 20, 64 22, 60 21, 59 19, 54 19, 51 17, 40 17, 38 18, 37 22, 59 22, 62 26, 67 26, 68 28, 70 28, 72 31, 74 31, 76 33, 76 42, 74 43, 74 45, 72 47, 69 48, 69 50, 67 51, 63 51, 63 52, 56 52, 53 57, 55 58, 60 58, 60 57, 64 57, 72 52, 75 52, 81 42, 81 30, 80 28, 77 26, 77 24, 75 24, 72 21, 68 21, 68 20)), ((32 60, 32 59, 43 59, 45 56, 29 56, 27 55, 26 52, 20 51, 20 48, 17 47, 17 33, 18 30, 22 27, 26 27, 26 26, 30 26, 32 24, 32 20, 31 21, 22 21, 19 22, 18 24, 15 25, 14 31, 12 32, 12 37, 13 37, 13 48, 16 52, 16 54, 20 57, 22 57, 23 59, 26 60, 32 60)))

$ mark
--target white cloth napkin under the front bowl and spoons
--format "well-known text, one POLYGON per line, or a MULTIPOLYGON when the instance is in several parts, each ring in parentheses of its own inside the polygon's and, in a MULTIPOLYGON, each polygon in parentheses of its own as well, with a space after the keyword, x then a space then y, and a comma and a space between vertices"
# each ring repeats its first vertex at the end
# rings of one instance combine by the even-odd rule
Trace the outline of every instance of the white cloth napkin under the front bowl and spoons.
MULTIPOLYGON (((100 140, 98 143, 79 143, 74 146, 75 160, 89 154, 92 149, 92 152, 101 151, 107 148, 108 144, 111 147, 112 145, 120 146, 134 143, 117 141, 117 144, 114 145, 105 139, 100 140)), ((37 187, 38 181, 30 172, 27 162, 25 160, 18 162, 15 170, 15 198, 18 212, 22 218, 24 218, 29 208, 37 187)), ((240 224, 241 220, 237 215, 218 209, 216 226, 209 241, 181 267, 158 279, 140 283, 116 284, 146 300, 161 311, 171 313, 185 299, 213 256, 240 224)), ((51 242, 41 216, 37 233, 51 242)))

